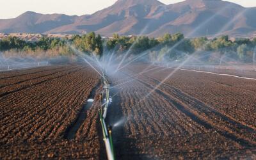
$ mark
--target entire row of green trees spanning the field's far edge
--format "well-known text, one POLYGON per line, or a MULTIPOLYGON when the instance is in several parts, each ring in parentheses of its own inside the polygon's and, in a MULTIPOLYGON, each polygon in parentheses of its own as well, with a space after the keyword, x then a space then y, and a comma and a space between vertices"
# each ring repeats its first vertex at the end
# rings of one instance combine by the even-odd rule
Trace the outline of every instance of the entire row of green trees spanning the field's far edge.
POLYGON ((76 54, 78 49, 84 54, 101 56, 105 51, 115 51, 118 54, 130 51, 132 54, 150 51, 151 58, 161 59, 168 56, 172 60, 179 60, 185 55, 200 51, 202 56, 209 52, 214 54, 228 54, 240 61, 252 61, 255 54, 256 38, 239 38, 231 41, 228 36, 208 39, 206 37, 185 38, 181 33, 174 35, 165 34, 159 38, 148 36, 119 36, 102 39, 100 35, 88 33, 74 35, 71 39, 41 38, 37 42, 26 42, 17 37, 3 38, 0 40, 0 51, 17 49, 19 51, 49 51, 60 52, 61 55, 76 54))

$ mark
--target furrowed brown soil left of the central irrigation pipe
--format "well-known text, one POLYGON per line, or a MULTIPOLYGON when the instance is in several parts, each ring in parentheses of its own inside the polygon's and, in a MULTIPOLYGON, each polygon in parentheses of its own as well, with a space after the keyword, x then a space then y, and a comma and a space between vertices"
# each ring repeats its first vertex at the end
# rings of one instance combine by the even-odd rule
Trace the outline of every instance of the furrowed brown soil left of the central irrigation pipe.
POLYGON ((99 84, 97 73, 86 66, 1 72, 0 159, 99 159, 99 84), (68 140, 65 135, 90 96, 95 101, 68 140))

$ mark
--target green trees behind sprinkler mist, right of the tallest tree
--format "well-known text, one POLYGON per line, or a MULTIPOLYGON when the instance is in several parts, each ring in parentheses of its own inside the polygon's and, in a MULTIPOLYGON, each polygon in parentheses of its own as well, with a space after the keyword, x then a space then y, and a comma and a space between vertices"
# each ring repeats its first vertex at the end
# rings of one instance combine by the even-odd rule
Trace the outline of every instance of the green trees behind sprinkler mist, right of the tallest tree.
POLYGON ((237 38, 232 41, 228 36, 208 39, 206 37, 185 38, 183 34, 165 34, 159 38, 148 38, 147 36, 118 36, 107 40, 107 49, 116 52, 127 51, 128 49, 138 54, 143 51, 150 51, 150 58, 161 60, 164 57, 172 60, 180 60, 184 56, 200 52, 204 54, 216 54, 230 56, 234 60, 253 61, 253 54, 256 52, 256 38, 237 38))

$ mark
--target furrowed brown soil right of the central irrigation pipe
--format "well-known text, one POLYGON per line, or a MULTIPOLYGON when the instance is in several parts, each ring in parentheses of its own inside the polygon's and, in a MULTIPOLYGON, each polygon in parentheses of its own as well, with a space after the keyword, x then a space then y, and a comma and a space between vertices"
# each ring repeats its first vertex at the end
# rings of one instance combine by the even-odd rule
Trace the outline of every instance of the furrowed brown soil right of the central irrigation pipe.
POLYGON ((255 158, 256 81, 178 70, 152 92, 173 71, 154 67, 133 64, 112 79, 118 159, 255 158))

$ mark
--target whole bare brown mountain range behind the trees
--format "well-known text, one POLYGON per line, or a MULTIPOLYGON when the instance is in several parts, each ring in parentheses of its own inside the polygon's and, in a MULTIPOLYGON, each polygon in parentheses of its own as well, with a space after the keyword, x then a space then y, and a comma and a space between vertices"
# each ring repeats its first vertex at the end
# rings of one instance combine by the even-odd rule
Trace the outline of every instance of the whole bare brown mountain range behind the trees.
POLYGON ((42 15, 26 12, 0 20, 0 33, 68 33, 100 35, 184 33, 193 36, 250 36, 256 33, 256 8, 221 0, 186 0, 166 5, 157 0, 118 0, 92 15, 42 15))

